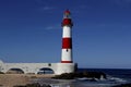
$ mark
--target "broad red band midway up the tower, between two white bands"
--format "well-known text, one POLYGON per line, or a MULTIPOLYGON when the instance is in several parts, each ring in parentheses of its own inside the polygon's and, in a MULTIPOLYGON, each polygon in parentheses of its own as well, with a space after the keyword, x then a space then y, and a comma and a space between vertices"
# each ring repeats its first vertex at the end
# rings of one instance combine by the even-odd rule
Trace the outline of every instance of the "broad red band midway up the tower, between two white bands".
POLYGON ((71 48, 72 48, 72 39, 62 38, 62 49, 71 49, 71 48))

